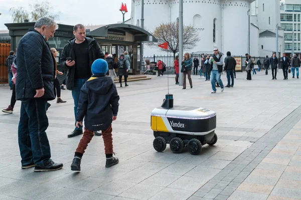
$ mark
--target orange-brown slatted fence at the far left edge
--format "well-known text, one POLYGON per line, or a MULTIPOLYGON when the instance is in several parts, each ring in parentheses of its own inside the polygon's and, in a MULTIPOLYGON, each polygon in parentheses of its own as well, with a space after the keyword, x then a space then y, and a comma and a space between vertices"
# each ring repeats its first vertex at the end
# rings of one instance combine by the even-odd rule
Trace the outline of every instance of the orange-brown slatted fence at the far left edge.
POLYGON ((7 37, 0 37, 0 84, 9 82, 9 72, 5 62, 10 54, 10 50, 11 39, 7 37))

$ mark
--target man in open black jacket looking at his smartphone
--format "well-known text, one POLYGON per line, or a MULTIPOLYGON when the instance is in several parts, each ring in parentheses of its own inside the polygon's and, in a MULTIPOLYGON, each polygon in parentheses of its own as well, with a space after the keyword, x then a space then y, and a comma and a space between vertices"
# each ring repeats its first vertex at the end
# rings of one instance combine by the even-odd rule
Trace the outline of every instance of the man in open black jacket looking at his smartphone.
MULTIPOLYGON (((104 54, 97 41, 93 37, 86 36, 84 25, 76 24, 73 34, 75 38, 70 39, 62 51, 61 66, 67 70, 66 87, 72 91, 76 118, 80 89, 92 75, 91 65, 94 60, 104 59, 104 54)), ((80 134, 83 134, 82 126, 75 127, 68 137, 80 134)), ((95 131, 94 134, 101 135, 101 131, 95 131)))

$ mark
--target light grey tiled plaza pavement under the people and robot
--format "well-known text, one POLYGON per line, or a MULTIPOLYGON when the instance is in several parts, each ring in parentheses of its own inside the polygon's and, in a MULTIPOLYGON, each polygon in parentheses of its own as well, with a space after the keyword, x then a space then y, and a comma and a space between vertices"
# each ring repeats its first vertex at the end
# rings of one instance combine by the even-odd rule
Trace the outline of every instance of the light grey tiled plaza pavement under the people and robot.
MULTIPOLYGON (((105 168, 101 136, 94 136, 82 158, 81 171, 70 169, 81 136, 74 129, 71 91, 67 103, 50 102, 47 115, 52 158, 58 171, 21 169, 18 146, 20 101, 13 114, 0 113, 0 199, 301 199, 301 79, 271 79, 260 71, 246 80, 238 72, 234 87, 211 94, 210 81, 193 77, 183 90, 170 75, 175 105, 201 106, 217 113, 218 141, 201 154, 186 148, 175 154, 169 145, 153 148, 150 112, 167 93, 167 75, 130 82, 119 88, 120 106, 113 121, 117 165, 105 168)), ((226 85, 226 75, 222 75, 226 85)), ((0 105, 10 103, 11 90, 0 86, 0 105)))

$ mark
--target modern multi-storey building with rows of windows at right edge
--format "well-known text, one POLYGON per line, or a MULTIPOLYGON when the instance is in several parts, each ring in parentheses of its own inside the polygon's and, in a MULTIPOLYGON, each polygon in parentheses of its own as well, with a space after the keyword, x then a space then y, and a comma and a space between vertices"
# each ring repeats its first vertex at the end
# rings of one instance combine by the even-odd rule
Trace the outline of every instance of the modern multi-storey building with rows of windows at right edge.
POLYGON ((284 28, 284 50, 301 57, 301 1, 280 0, 280 21, 284 28))

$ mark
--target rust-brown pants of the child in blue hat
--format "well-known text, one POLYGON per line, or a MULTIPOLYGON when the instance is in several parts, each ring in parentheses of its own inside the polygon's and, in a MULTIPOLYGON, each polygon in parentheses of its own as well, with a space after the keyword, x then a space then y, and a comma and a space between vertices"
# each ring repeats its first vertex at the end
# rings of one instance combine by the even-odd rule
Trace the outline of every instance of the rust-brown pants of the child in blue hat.
MULTIPOLYGON (((101 134, 103 138, 105 154, 113 153, 112 124, 107 129, 101 130, 101 134)), ((75 152, 84 154, 85 149, 87 148, 88 143, 90 143, 93 136, 94 131, 89 130, 85 127, 83 137, 80 139, 75 152)))

